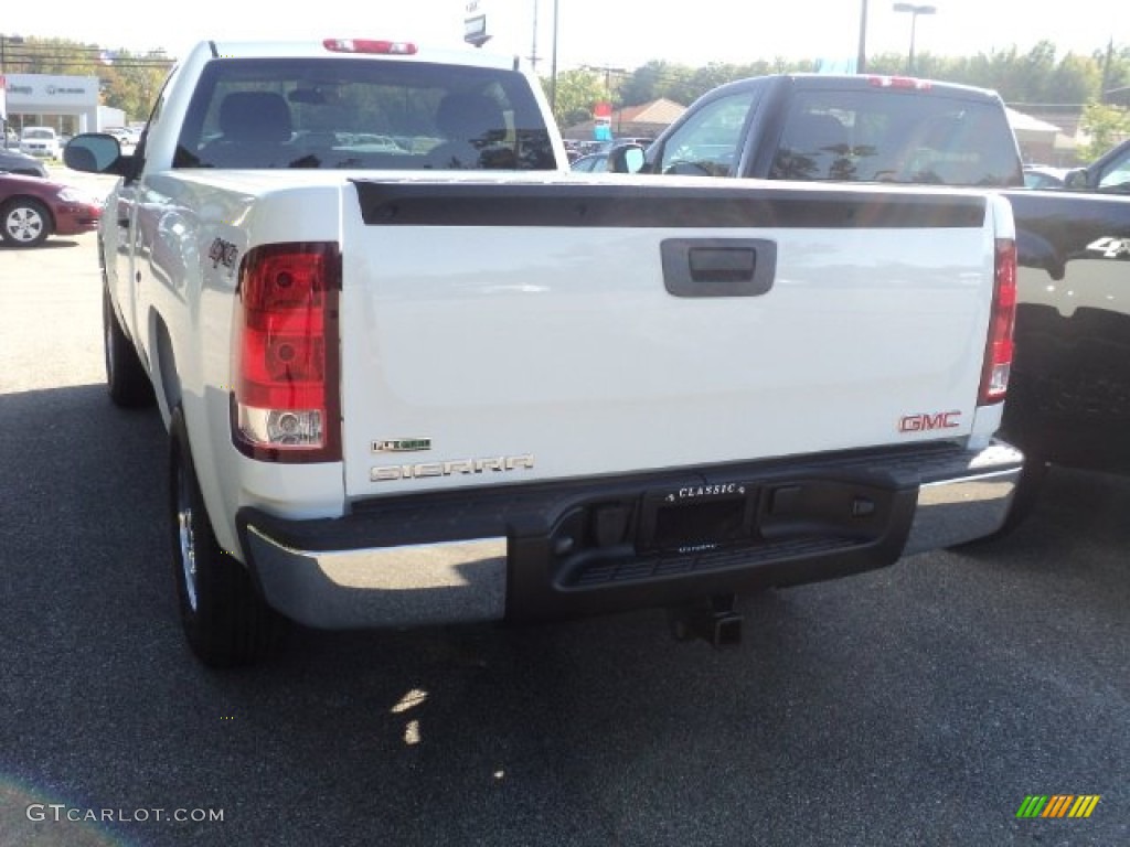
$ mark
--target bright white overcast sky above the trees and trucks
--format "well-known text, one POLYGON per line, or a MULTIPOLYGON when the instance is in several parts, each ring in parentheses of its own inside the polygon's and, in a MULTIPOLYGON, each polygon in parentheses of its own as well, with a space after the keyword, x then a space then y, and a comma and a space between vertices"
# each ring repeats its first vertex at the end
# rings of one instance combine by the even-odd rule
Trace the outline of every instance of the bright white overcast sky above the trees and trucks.
MULTIPOLYGON (((632 70, 660 59, 678 64, 746 63, 758 59, 850 60, 859 49, 864 0, 315 0, 264 2, 191 0, 106 6, 90 0, 3 2, 0 34, 71 38, 145 52, 163 49, 183 55, 197 41, 377 37, 420 45, 462 47, 468 6, 484 14, 493 35, 485 50, 529 58, 537 45, 537 70, 548 73, 556 15, 557 68, 582 66, 632 70), (145 9, 153 12, 146 14, 145 9), (106 14, 112 9, 112 14, 106 14), (364 12, 358 12, 364 9, 364 12), (534 16, 537 25, 534 25, 534 16)), ((907 52, 909 14, 893 3, 867 0, 867 53, 907 52)), ((1033 0, 935 0, 937 12, 916 17, 915 52, 974 55, 1009 50, 1022 53, 1042 40, 1058 55, 1090 54, 1113 38, 1130 46, 1130 24, 1110 0, 1040 3, 1033 0), (1070 15, 1064 14, 1070 10, 1070 15), (1121 21, 1121 23, 1120 23, 1121 21)))

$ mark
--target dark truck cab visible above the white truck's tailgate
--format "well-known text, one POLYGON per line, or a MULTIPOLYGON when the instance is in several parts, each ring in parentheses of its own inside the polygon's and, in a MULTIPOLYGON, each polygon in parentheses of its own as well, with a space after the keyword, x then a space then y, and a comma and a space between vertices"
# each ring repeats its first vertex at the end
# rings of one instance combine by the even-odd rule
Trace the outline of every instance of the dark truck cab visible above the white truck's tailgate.
POLYGON ((972 187, 1024 185, 992 91, 920 79, 780 75, 720 86, 616 173, 972 187))

